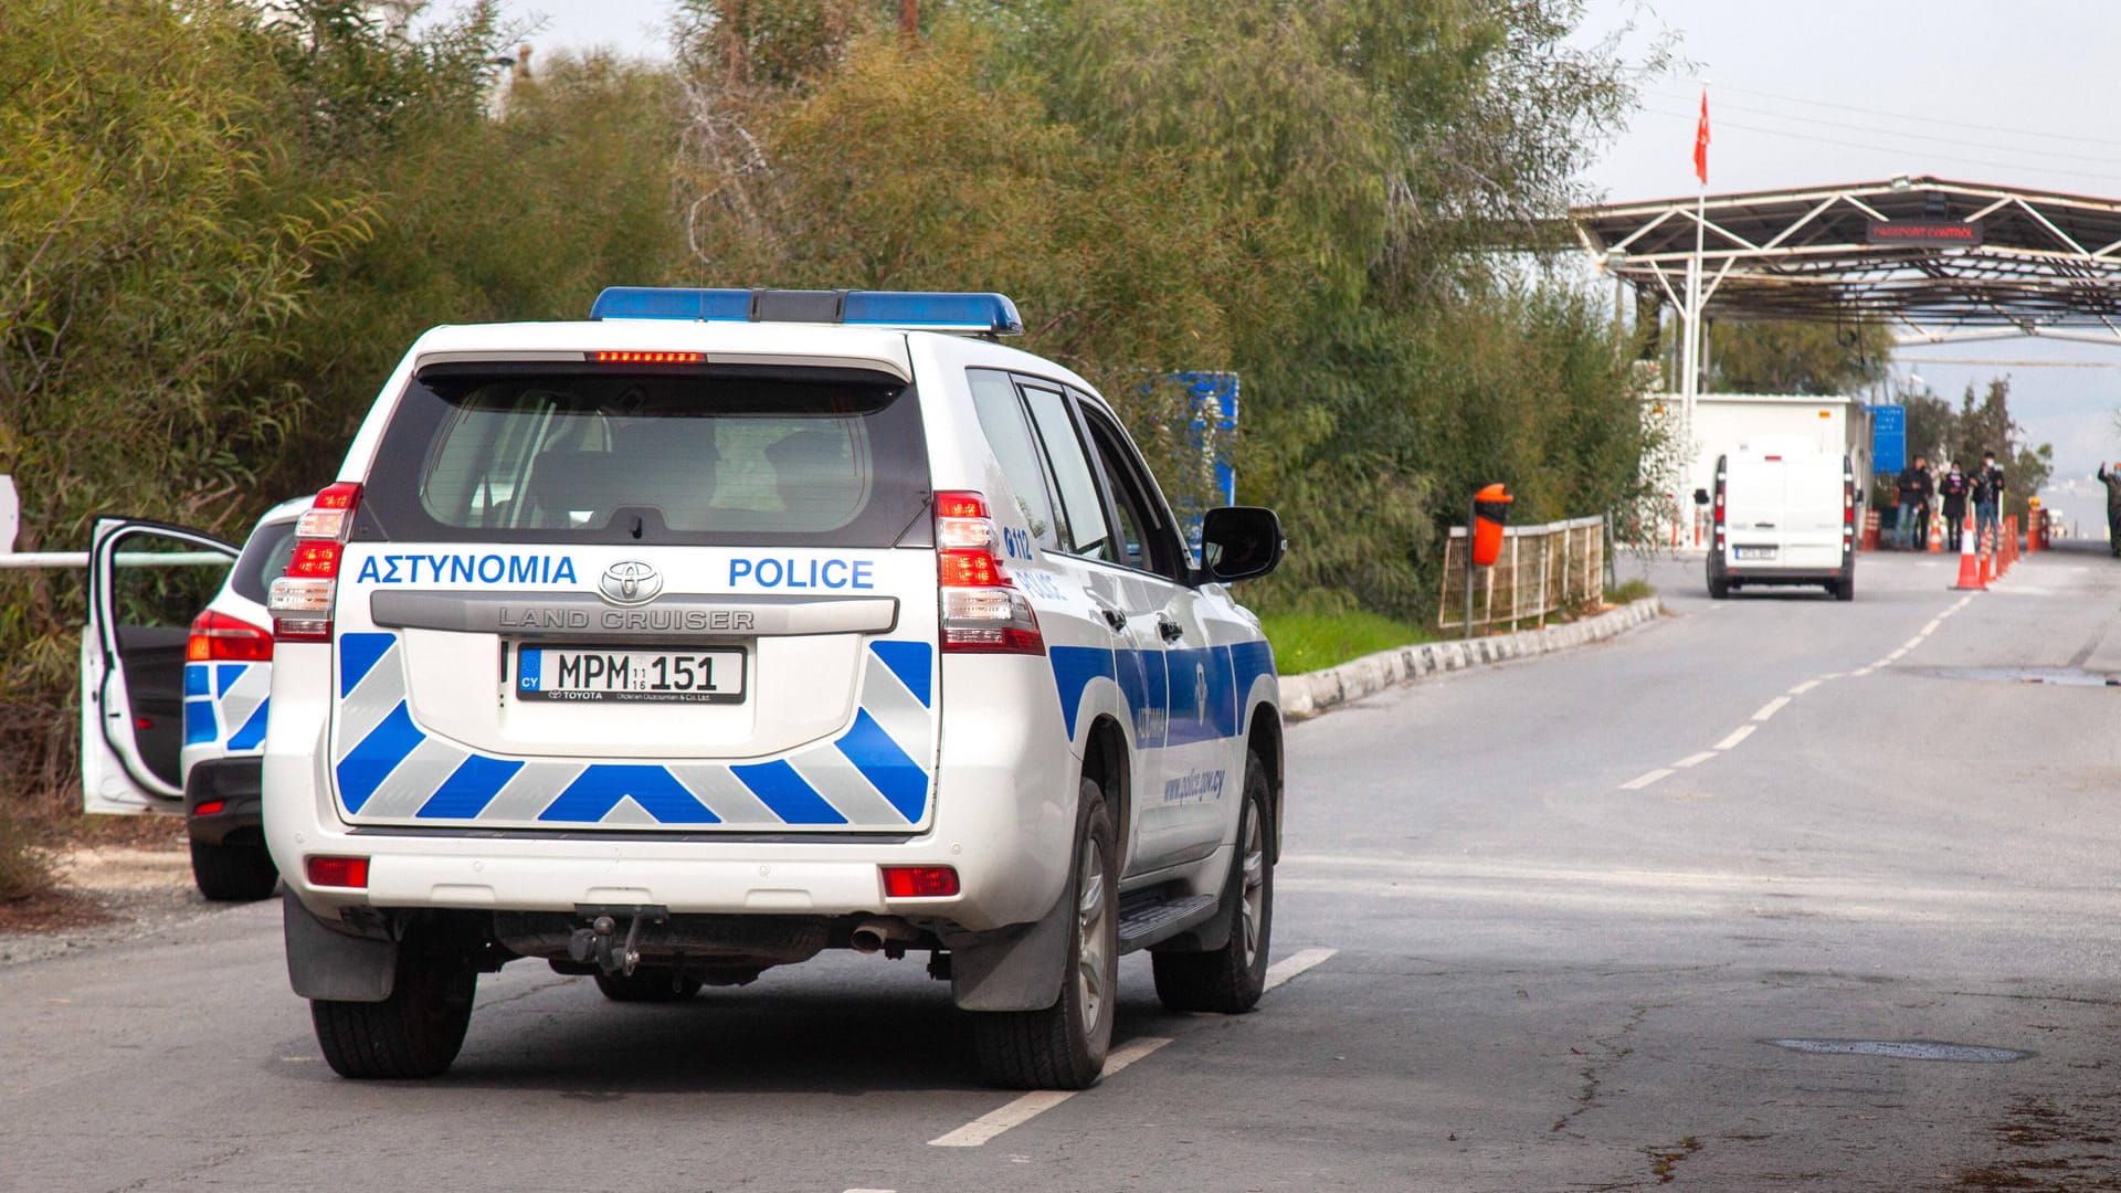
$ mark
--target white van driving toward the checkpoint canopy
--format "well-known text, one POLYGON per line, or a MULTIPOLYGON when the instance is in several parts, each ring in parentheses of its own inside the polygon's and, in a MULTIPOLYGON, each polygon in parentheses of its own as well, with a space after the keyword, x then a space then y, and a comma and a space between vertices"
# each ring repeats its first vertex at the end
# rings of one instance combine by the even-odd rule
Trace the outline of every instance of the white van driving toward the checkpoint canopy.
POLYGON ((1856 471, 1805 442, 1741 444, 1716 459, 1710 596, 1748 584, 1818 584, 1856 599, 1856 471))

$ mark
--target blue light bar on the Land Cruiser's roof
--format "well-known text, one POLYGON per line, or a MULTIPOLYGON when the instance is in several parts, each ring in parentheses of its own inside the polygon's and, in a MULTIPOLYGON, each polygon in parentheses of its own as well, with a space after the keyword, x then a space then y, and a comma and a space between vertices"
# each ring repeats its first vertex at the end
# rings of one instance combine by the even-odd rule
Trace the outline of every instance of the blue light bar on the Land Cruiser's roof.
POLYGON ((1022 335, 1007 295, 944 291, 734 291, 609 287, 590 318, 694 323, 844 323, 899 331, 1022 335))

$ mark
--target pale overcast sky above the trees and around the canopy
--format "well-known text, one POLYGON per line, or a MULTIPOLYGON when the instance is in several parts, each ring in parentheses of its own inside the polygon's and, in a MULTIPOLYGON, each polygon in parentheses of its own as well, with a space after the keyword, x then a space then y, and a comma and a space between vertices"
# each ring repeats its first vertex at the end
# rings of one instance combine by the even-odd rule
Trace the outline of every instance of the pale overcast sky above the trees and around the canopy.
MULTIPOLYGON (((660 57, 668 0, 503 0, 543 19, 539 49, 611 47, 660 57)), ((1710 87, 1712 191, 1934 174, 1968 183, 2121 197, 2117 0, 1589 0, 1584 36, 1633 23, 1627 45, 1678 36, 1684 66, 1644 89, 1642 110, 1591 183, 1610 200, 1695 191, 1693 129, 1710 87)), ((2057 482, 2121 456, 2121 346, 2006 340, 1913 348, 1909 374, 1953 401, 2011 376, 2011 408, 2055 444, 2057 482), (1979 359, 1985 365, 1941 363, 1979 359), (2059 367, 2057 367, 2059 365, 2059 367)), ((2087 480, 2089 484, 2089 480, 2087 480)), ((2104 520, 2104 490, 2059 484, 2051 503, 2104 520)))

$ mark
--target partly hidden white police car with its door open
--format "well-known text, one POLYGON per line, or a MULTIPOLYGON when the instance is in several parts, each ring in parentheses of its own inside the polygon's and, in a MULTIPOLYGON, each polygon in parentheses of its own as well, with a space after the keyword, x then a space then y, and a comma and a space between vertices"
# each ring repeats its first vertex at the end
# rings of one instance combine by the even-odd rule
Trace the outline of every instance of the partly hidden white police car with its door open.
POLYGON ((271 686, 265 586, 310 499, 259 518, 242 550, 199 531, 100 518, 81 635, 81 800, 89 813, 185 813, 212 900, 278 883, 259 815, 271 686), (204 605, 204 609, 201 609, 204 605))

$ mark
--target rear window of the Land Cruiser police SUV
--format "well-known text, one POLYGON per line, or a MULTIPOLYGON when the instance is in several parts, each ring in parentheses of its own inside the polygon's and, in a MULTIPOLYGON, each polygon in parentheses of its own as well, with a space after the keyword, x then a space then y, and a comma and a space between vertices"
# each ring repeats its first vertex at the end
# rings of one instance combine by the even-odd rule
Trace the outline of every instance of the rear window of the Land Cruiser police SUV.
POLYGON ((880 374, 435 365, 384 433, 356 533, 891 546, 927 488, 918 401, 880 374))

